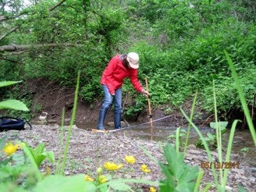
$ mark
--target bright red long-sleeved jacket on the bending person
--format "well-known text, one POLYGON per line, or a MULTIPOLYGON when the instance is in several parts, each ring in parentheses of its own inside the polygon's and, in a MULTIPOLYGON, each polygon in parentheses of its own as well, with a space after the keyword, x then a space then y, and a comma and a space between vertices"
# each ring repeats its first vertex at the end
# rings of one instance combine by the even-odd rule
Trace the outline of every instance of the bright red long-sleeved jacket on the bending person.
POLYGON ((122 87, 123 80, 129 77, 133 87, 141 92, 143 87, 137 79, 137 69, 126 69, 120 56, 116 55, 108 62, 108 66, 101 76, 101 84, 105 84, 108 87, 110 94, 115 94, 116 89, 122 87))

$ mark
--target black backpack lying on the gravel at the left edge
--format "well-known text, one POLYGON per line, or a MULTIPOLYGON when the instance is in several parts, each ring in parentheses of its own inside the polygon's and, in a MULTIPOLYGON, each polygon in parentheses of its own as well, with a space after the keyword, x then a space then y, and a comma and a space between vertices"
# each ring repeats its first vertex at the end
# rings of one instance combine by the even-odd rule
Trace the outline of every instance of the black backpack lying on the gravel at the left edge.
POLYGON ((30 126, 30 130, 32 126, 29 122, 24 121, 23 119, 18 119, 12 116, 1 116, 0 117, 0 131, 5 130, 26 130, 25 124, 30 126))

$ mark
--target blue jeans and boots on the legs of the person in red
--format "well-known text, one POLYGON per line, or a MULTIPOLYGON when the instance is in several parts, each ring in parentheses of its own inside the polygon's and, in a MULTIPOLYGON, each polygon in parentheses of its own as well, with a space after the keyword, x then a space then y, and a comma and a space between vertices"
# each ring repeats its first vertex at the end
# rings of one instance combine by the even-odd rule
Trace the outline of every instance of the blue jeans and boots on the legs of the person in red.
POLYGON ((115 96, 113 97, 109 91, 108 87, 102 85, 104 92, 104 101, 101 105, 100 113, 98 116, 98 130, 104 129, 104 121, 108 112, 108 108, 112 105, 112 101, 114 98, 114 123, 115 129, 121 128, 121 119, 122 119, 122 88, 119 88, 115 92, 115 96))

